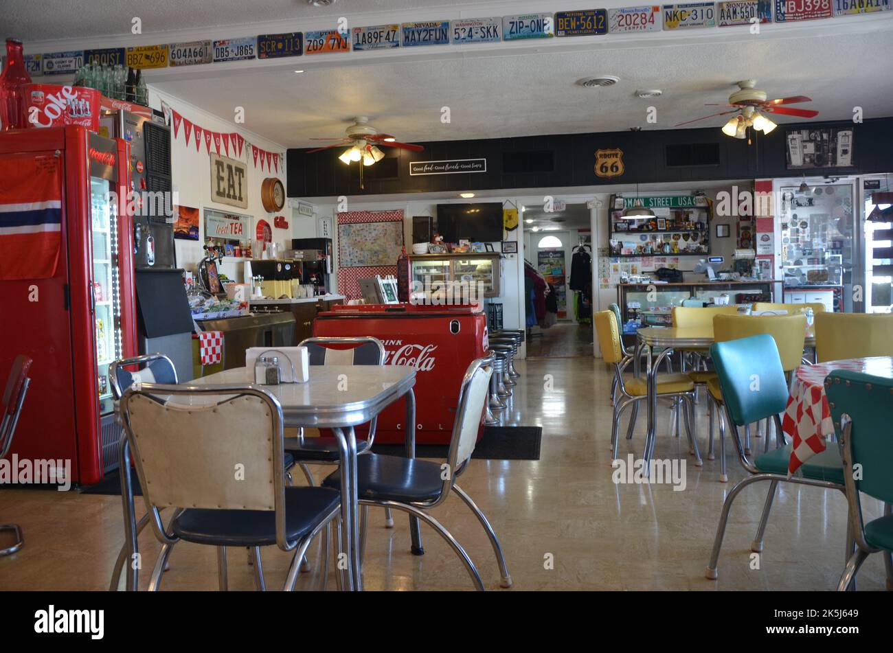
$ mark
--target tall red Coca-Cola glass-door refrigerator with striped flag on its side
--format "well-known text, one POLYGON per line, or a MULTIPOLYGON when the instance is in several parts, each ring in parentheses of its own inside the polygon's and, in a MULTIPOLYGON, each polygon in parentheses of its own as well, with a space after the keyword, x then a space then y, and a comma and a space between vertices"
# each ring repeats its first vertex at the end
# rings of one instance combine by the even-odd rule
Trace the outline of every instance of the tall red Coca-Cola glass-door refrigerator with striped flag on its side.
POLYGON ((0 377, 34 360, 11 455, 79 484, 117 464, 108 368, 136 353, 128 161, 81 126, 0 134, 0 377))

